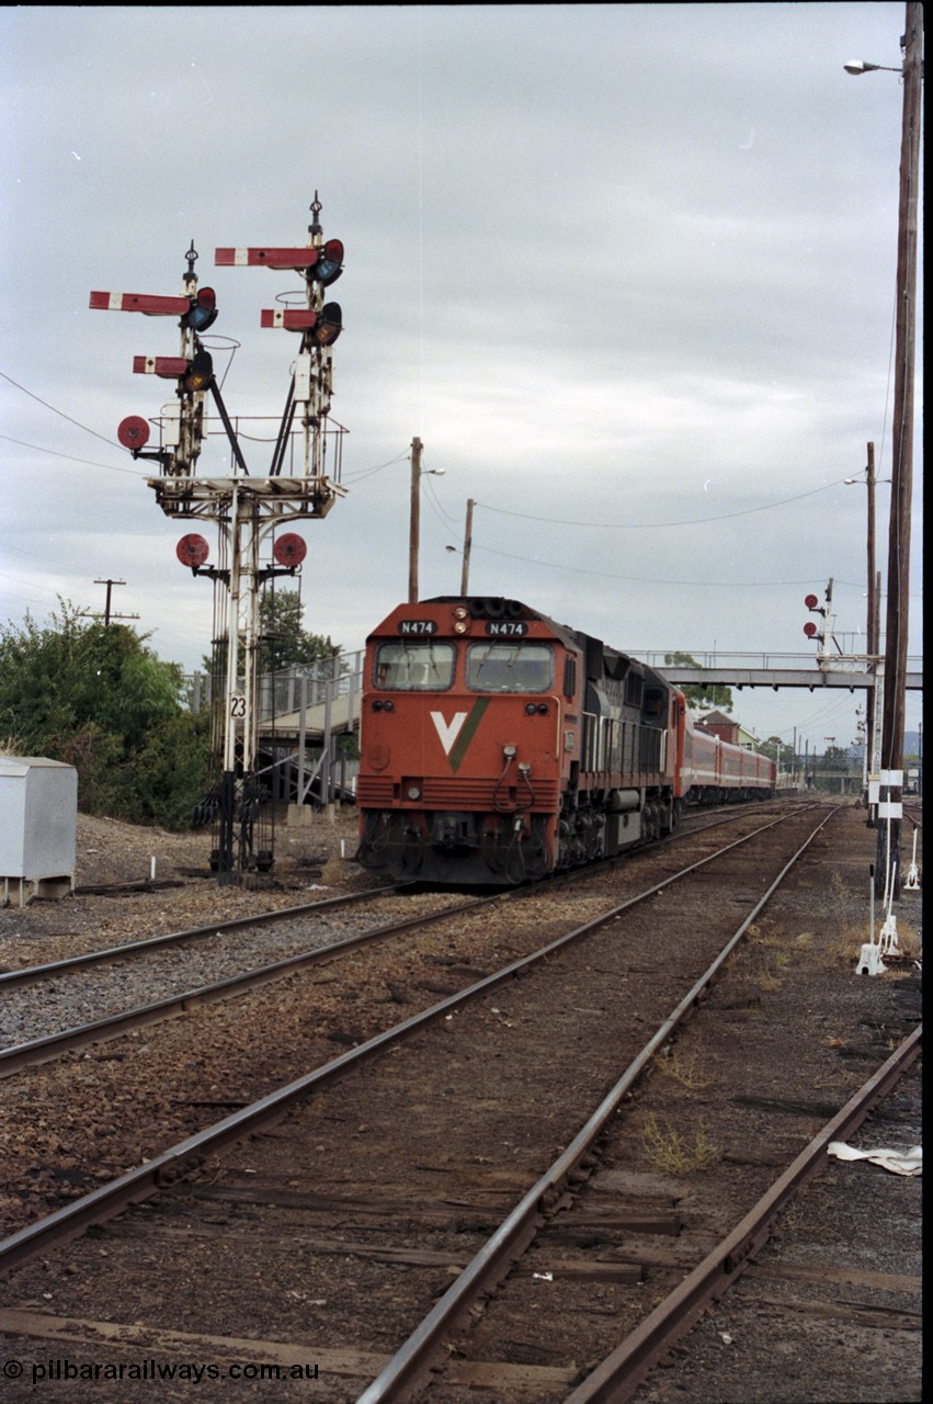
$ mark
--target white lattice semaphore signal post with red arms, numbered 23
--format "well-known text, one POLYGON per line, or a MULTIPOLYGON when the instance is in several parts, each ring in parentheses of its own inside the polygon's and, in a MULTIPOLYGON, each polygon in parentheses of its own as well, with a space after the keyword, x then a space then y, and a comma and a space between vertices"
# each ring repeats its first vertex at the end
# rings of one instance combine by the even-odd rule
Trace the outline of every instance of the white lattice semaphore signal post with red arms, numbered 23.
POLYGON ((310 208, 307 244, 217 249, 215 256, 219 268, 265 267, 303 279, 300 293, 279 293, 279 306, 262 310, 260 319, 262 327, 300 337, 265 476, 250 472, 215 378, 212 350, 217 347, 205 333, 217 316, 216 293, 198 286, 194 241, 178 296, 93 292, 90 303, 101 310, 178 317, 178 355, 133 359, 135 373, 175 382, 174 399, 152 421, 159 425, 159 446, 147 448, 150 421, 139 416, 121 423, 118 438, 133 458, 159 463, 159 476, 147 482, 167 517, 217 526, 217 564, 208 564, 210 548, 196 532, 181 538, 177 555, 192 574, 206 576, 215 585, 215 699, 223 698, 223 710, 215 703, 215 779, 198 813, 202 821, 215 824, 212 863, 222 885, 269 872, 274 863, 272 828, 264 819, 269 812, 264 778, 268 768, 258 750, 260 602, 265 584, 276 576, 297 574, 306 553, 304 541, 281 528, 325 517, 347 491, 340 483, 345 430, 328 421, 333 347, 342 330, 342 313, 337 302, 324 300, 325 289, 342 272, 344 246, 338 239, 324 240, 317 192, 310 208), (198 472, 208 434, 208 396, 230 445, 229 477, 198 472))

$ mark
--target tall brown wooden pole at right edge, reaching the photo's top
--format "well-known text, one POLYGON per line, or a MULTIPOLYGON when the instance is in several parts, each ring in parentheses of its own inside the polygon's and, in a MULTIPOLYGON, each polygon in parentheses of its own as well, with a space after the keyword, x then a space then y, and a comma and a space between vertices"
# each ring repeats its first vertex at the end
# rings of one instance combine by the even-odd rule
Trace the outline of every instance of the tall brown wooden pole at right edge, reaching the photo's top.
POLYGON ((894 371, 891 525, 888 531, 888 608, 881 727, 881 790, 875 885, 885 875, 901 893, 901 816, 904 786, 904 710, 911 587, 911 504, 913 493, 913 378, 916 343, 916 244, 920 174, 920 95, 923 83, 923 6, 908 0, 902 38, 904 117, 898 199, 898 272, 894 371))

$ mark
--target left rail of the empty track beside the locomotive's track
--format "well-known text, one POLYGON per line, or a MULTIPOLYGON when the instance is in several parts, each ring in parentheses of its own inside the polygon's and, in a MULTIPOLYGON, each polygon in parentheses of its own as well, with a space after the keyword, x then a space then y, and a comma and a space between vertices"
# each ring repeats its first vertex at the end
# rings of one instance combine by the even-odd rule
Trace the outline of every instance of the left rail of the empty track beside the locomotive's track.
MULTIPOLYGON (((112 1219, 129 1205, 142 1203, 143 1200, 152 1198, 163 1185, 174 1182, 185 1171, 194 1170, 208 1154, 215 1154, 224 1146, 243 1140, 247 1136, 253 1136, 260 1130, 268 1129, 279 1122, 292 1108, 297 1106, 316 1091, 320 1091, 321 1087, 335 1081, 348 1070, 356 1066, 363 1066, 370 1059, 382 1053, 383 1049, 401 1043, 412 1033, 424 1029, 428 1024, 453 1012, 463 1004, 478 998, 490 990, 505 984, 522 970, 528 970, 542 962, 546 963, 564 946, 571 945, 591 932, 598 931, 600 927, 608 925, 623 911, 627 911, 650 897, 657 896, 657 893, 669 887, 673 882, 678 882, 678 879, 689 876, 692 872, 696 872, 699 868, 704 868, 707 863, 714 862, 717 858, 731 852, 734 848, 739 848, 742 844, 749 842, 759 834, 774 828, 777 824, 786 823, 788 817, 793 816, 776 819, 772 823, 756 828, 752 834, 734 840, 731 844, 727 844, 725 848, 717 849, 714 854, 707 854, 706 858, 690 863, 687 868, 682 869, 682 872, 665 878, 655 886, 645 889, 645 892, 638 893, 634 897, 629 897, 616 907, 612 907, 608 911, 600 913, 598 917, 593 917, 591 921, 584 922, 584 925, 565 932, 563 936, 557 936, 546 946, 532 952, 532 955, 522 956, 518 960, 511 962, 494 974, 485 976, 483 980, 477 980, 476 984, 471 984, 456 994, 448 995, 436 1004, 432 1004, 429 1008, 422 1009, 419 1014, 414 1014, 411 1018, 404 1019, 401 1024, 396 1024, 390 1029, 384 1029, 382 1033, 376 1033, 372 1039, 368 1039, 355 1049, 349 1049, 347 1053, 340 1054, 330 1063, 324 1063, 321 1067, 314 1068, 314 1071, 295 1078, 292 1082, 276 1088, 274 1092, 260 1098, 250 1106, 246 1106, 239 1112, 233 1112, 230 1116, 223 1118, 220 1122, 215 1122, 212 1126, 196 1132, 194 1136, 188 1136, 185 1140, 168 1147, 168 1150, 161 1151, 161 1154, 154 1155, 152 1160, 146 1161, 146 1164, 136 1165, 133 1170, 126 1171, 116 1179, 101 1185, 98 1189, 93 1189, 87 1195, 81 1195, 80 1199, 76 1199, 70 1205, 65 1205, 52 1214, 46 1214, 45 1219, 38 1219, 35 1223, 27 1224, 25 1228, 20 1228, 17 1233, 0 1241, 0 1273, 10 1272, 17 1266, 29 1262, 41 1252, 46 1252, 55 1245, 70 1241, 90 1224, 112 1219)), ((822 820, 818 828, 814 830, 811 837, 807 840, 807 844, 812 842, 815 835, 819 833, 819 828, 822 828, 831 817, 832 816, 828 814, 822 820)), ((787 866, 791 866, 793 862, 794 859, 791 859, 791 863, 787 866)), ((787 869, 784 869, 784 872, 787 869)), ((714 962, 716 969, 718 969, 723 963, 728 951, 732 949, 732 945, 741 939, 741 935, 744 935, 748 925, 751 925, 755 914, 767 900, 769 894, 758 903, 755 913, 752 913, 752 915, 749 915, 742 924, 730 942, 728 949, 717 958, 717 962, 714 962)), ((689 1007, 696 995, 697 986, 694 986, 686 995, 683 1005, 689 1007)), ((668 1024, 662 1026, 662 1031, 668 1028, 668 1024)), ((657 1035, 657 1038, 661 1038, 661 1042, 664 1042, 664 1038, 661 1036, 662 1031, 657 1035)), ((669 1038, 669 1033, 665 1036, 669 1038)), ((655 1040, 652 1040, 652 1045, 654 1042, 655 1040)), ((647 1059, 643 1061, 647 1061, 647 1059)))

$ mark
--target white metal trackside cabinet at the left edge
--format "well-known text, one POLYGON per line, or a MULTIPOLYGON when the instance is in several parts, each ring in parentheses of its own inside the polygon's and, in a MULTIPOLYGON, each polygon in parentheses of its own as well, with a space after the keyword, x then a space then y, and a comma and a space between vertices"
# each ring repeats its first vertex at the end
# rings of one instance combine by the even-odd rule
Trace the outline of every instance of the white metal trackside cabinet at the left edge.
POLYGON ((74 889, 77 771, 42 757, 0 755, 3 901, 66 897, 74 889))

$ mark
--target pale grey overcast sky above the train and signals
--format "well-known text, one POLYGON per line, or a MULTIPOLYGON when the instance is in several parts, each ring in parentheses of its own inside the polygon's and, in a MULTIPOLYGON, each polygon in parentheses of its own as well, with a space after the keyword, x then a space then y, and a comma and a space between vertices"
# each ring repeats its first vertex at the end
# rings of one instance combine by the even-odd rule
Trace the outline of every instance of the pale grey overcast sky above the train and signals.
MULTIPOLYGON (((114 611, 201 664, 212 590, 175 559, 198 524, 116 442, 171 395, 132 358, 177 354, 175 324, 88 298, 178 293, 194 239, 227 409, 275 423, 297 343, 260 310, 295 275, 213 253, 304 244, 318 191, 349 491, 302 525, 306 628, 356 649, 407 598, 417 435, 422 597, 459 592, 471 498, 471 592, 617 649, 812 657, 803 598, 831 577, 864 649, 843 480, 868 442, 891 470, 902 86, 843 63, 898 67, 902 29, 902 3, 6 7, 0 622, 125 580, 114 611)), ((262 476, 268 444, 243 448, 262 476)), ((199 470, 229 462, 217 434, 199 470)), ((920 529, 918 444, 912 654, 920 529)), ((737 715, 824 750, 859 698, 737 715)))

